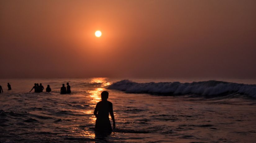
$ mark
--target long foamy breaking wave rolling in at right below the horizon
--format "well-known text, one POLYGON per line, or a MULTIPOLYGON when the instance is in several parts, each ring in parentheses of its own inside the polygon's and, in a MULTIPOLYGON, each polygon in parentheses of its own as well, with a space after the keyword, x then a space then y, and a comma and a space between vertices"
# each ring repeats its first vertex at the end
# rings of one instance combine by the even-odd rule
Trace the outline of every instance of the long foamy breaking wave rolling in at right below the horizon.
POLYGON ((130 80, 121 80, 111 84, 108 89, 121 90, 126 93, 149 93, 149 94, 176 94, 176 95, 228 95, 244 94, 256 98, 255 84, 238 84, 224 81, 200 81, 192 83, 180 82, 150 82, 136 83, 130 80))

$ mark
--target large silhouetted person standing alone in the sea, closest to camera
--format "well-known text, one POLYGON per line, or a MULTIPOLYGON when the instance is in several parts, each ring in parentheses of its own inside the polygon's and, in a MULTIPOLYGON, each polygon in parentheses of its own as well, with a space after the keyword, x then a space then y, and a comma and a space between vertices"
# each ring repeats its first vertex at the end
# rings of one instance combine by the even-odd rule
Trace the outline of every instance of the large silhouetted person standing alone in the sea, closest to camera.
POLYGON ((113 121, 113 129, 115 129, 115 117, 113 113, 113 105, 108 100, 108 92, 101 92, 101 101, 96 104, 94 115, 96 116, 95 131, 111 133, 112 128, 109 120, 109 113, 113 121))

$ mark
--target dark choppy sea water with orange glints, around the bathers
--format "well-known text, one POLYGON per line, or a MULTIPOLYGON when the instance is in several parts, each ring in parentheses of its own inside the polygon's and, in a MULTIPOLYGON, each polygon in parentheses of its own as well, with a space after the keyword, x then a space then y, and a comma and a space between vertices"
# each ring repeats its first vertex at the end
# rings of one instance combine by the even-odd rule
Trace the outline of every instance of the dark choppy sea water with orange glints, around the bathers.
MULTIPOLYGON (((1 79, 0 142, 256 142, 251 96, 159 96, 106 89, 119 80, 1 79), (7 91, 7 82, 13 90, 7 91), (60 95, 66 82, 72 94, 60 95), (34 83, 50 84, 53 92, 29 93, 34 83), (93 111, 103 90, 110 93, 116 120, 116 129, 104 138, 95 137, 93 130, 93 111)), ((137 80, 148 81, 154 80, 137 80)))

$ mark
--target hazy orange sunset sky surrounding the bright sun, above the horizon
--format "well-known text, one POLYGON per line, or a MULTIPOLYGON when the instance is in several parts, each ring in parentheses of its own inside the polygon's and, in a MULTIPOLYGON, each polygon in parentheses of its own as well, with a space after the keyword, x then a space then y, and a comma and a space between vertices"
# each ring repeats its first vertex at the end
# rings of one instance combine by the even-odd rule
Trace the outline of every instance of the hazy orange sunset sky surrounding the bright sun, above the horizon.
POLYGON ((255 0, 1 0, 0 78, 256 77, 255 7, 255 0))

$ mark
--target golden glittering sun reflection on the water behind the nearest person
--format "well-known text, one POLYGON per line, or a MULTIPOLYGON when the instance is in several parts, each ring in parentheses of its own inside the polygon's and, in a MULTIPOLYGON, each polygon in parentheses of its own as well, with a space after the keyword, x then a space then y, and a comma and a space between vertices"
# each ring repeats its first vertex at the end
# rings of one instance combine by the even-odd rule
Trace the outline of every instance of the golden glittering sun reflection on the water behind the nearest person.
MULTIPOLYGON (((101 92, 106 90, 106 86, 110 85, 111 83, 106 81, 106 78, 92 78, 91 81, 89 82, 90 84, 101 84, 102 87, 99 88, 95 88, 94 90, 88 90, 87 92, 89 93, 89 96, 91 97, 90 99, 90 107, 92 107, 93 109, 95 108, 96 104, 101 101, 101 92)), ((96 117, 93 114, 94 110, 88 110, 84 113, 88 114, 88 115, 92 115, 90 117, 90 121, 92 124, 95 124, 96 121, 96 117)), ((81 136, 86 136, 89 138, 95 138, 95 134, 92 132, 89 132, 87 130, 83 130, 81 133, 81 136)))

